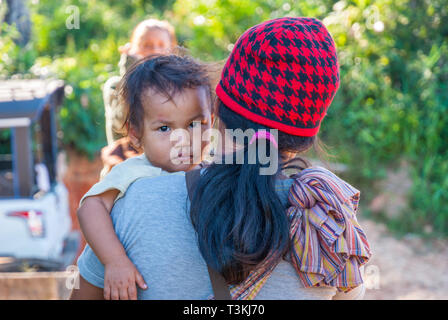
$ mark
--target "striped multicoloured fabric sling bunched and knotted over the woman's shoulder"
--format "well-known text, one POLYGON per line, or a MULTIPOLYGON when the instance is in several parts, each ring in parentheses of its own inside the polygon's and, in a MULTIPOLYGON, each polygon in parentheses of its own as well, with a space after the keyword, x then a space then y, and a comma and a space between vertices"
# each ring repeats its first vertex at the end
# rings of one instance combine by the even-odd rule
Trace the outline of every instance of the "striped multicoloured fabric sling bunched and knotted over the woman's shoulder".
MULTIPOLYGON (((371 251, 356 220, 360 192, 331 171, 315 166, 292 176, 286 214, 290 221, 290 262, 304 287, 331 286, 348 292, 362 284, 360 267, 371 251)), ((234 300, 253 299, 279 261, 266 259, 241 284, 234 300)))

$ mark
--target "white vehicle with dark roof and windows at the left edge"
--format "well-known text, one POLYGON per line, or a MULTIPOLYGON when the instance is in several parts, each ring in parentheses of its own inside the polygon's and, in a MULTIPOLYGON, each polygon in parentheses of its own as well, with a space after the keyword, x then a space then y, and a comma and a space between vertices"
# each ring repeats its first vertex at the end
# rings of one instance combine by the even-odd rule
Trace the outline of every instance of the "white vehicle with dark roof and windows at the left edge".
POLYGON ((58 166, 61 81, 0 81, 0 271, 63 270, 79 234, 58 166))

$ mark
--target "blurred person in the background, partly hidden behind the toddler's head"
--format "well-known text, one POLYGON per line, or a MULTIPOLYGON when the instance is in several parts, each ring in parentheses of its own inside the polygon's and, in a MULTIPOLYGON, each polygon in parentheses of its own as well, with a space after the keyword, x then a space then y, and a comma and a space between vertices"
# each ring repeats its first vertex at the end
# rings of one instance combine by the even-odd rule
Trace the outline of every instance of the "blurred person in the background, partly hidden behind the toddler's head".
POLYGON ((118 103, 116 86, 119 80, 138 60, 151 54, 167 54, 176 46, 176 35, 171 24, 167 21, 147 19, 140 22, 132 31, 130 42, 119 48, 120 76, 109 79, 104 85, 103 92, 108 146, 102 150, 104 162, 102 175, 109 172, 115 164, 139 154, 139 150, 130 145, 129 138, 120 134, 125 110, 118 103))

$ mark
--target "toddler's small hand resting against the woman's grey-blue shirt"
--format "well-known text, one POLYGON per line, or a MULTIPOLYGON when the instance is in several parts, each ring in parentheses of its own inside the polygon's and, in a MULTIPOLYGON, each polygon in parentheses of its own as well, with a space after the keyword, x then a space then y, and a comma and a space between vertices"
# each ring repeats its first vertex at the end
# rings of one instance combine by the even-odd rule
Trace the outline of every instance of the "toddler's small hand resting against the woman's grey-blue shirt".
POLYGON ((137 287, 147 289, 145 280, 128 257, 107 263, 104 271, 104 299, 137 300, 137 287))

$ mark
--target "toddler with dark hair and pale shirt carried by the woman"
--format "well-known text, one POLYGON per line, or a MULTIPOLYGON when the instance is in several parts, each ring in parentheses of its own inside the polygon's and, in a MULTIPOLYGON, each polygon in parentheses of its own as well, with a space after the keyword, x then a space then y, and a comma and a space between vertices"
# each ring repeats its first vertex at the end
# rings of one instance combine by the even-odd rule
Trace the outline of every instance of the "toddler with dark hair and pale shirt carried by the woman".
MULTIPOLYGON (((192 143, 193 128, 211 128, 211 87, 205 68, 188 57, 150 56, 124 76, 120 97, 127 110, 131 142, 143 154, 118 164, 81 199, 78 218, 84 236, 105 266, 106 299, 136 299, 136 283, 146 284, 118 240, 109 216, 114 202, 141 177, 189 171, 207 142, 192 143), (170 141, 173 130, 188 130, 190 140, 170 141)), ((184 131, 185 132, 185 131, 184 131)))

